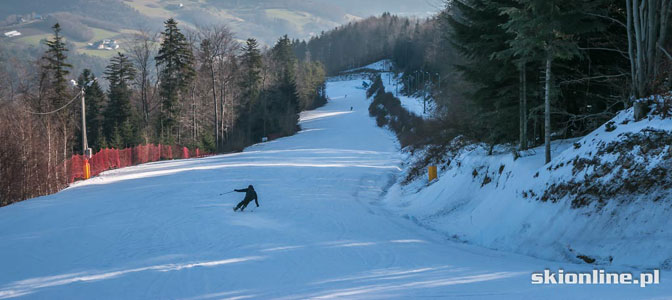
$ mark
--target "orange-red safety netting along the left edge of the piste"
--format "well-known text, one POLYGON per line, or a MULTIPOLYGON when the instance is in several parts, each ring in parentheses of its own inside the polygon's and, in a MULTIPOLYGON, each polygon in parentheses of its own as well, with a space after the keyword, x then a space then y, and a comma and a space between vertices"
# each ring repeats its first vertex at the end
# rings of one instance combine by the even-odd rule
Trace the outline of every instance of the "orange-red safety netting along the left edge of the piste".
MULTIPOLYGON (((124 168, 135 166, 148 162, 154 162, 167 159, 180 158, 198 158, 207 156, 198 148, 189 150, 187 147, 171 146, 171 145, 140 145, 133 148, 126 148, 122 150, 117 149, 101 149, 88 159, 90 176, 94 177, 98 174, 111 169, 124 168), (173 155, 173 148, 177 155, 173 155)), ((83 155, 73 155, 70 159, 70 182, 75 180, 86 179, 86 163, 87 159, 83 155)))

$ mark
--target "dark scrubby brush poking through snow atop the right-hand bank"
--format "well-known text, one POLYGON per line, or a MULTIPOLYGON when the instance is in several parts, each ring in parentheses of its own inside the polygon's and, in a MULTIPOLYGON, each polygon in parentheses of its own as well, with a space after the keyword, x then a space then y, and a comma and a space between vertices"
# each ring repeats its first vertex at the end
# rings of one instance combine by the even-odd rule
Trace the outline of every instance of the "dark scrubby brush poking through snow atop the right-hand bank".
POLYGON ((600 208, 610 200, 626 202, 637 195, 656 195, 653 199, 657 201, 668 195, 672 189, 672 131, 646 128, 618 137, 598 146, 595 156, 572 160, 573 178, 551 184, 539 200, 571 199, 572 208, 595 203, 600 208))

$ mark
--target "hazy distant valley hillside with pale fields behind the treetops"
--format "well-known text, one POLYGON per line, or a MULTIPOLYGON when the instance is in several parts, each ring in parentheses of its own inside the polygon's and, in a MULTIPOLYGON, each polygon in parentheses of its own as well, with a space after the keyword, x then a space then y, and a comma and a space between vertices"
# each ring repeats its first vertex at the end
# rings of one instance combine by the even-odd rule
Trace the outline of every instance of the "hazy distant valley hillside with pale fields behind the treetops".
MULTIPOLYGON (((70 13, 114 24, 120 29, 160 30, 163 20, 174 17, 191 28, 224 23, 240 39, 254 37, 270 45, 284 34, 304 39, 386 11, 428 16, 437 10, 431 1, 436 0, 5 0, 0 6, 0 27, 7 25, 1 21, 12 15, 70 13)), ((85 23, 84 26, 92 25, 85 23)))

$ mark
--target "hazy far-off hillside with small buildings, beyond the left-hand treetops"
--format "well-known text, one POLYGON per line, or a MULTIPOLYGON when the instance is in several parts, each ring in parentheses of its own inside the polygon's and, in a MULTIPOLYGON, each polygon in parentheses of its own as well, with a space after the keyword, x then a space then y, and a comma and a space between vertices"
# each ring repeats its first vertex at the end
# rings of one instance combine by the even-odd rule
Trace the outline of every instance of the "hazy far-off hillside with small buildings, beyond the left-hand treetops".
MULTIPOLYGON (((392 2, 369 1, 362 4, 356 1, 333 3, 326 0, 57 0, 41 4, 35 1, 8 0, 0 8, 0 30, 19 30, 23 35, 15 40, 35 45, 50 34, 49 26, 58 20, 67 23, 64 26, 66 37, 85 45, 100 39, 121 39, 124 34, 140 28, 159 30, 165 19, 173 17, 187 28, 226 24, 241 40, 254 37, 272 45, 284 34, 305 39, 384 11, 426 17, 440 7, 426 1, 417 1, 413 5, 408 1, 392 2), (36 15, 38 18, 35 18, 36 15), (50 16, 52 19, 47 20, 50 16)), ((77 46, 83 49, 81 44, 77 46)), ((106 56, 105 52, 85 53, 106 56)))

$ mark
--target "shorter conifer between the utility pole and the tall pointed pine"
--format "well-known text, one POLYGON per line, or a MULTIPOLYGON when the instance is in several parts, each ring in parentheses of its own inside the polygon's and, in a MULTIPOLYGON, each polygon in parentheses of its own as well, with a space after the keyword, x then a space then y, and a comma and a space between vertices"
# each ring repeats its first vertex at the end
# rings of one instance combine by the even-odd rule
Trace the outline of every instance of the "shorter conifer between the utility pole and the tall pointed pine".
MULTIPOLYGON (((127 56, 118 53, 113 57, 105 71, 105 78, 110 83, 109 102, 105 109, 105 133, 108 140, 114 140, 115 131, 121 126, 129 126, 133 107, 131 106, 131 82, 135 79, 135 68, 127 56)), ((115 146, 132 144, 133 136, 128 130, 122 131, 123 140, 115 146)))

